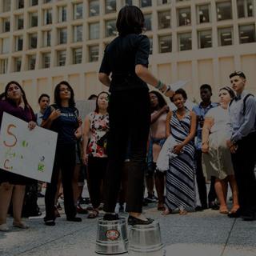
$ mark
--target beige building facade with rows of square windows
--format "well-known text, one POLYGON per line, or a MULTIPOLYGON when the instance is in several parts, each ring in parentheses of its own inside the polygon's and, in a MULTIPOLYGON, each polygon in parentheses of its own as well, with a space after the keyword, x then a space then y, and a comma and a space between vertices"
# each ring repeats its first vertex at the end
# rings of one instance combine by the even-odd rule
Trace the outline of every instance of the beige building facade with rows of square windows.
POLYGON ((189 80, 190 100, 203 83, 229 85, 243 70, 256 94, 255 0, 0 1, 0 92, 16 80, 31 105, 67 80, 77 99, 107 90, 98 82, 106 45, 117 36, 122 6, 139 6, 150 38, 150 70, 162 81, 189 80))

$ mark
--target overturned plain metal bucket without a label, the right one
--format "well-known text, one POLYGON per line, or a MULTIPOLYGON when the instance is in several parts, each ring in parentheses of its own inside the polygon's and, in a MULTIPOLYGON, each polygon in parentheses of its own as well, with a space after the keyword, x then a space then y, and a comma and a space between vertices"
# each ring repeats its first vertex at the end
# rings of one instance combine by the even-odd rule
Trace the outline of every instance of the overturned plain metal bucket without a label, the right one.
POLYGON ((163 256, 165 254, 159 222, 153 222, 150 225, 132 226, 129 240, 129 255, 163 256))

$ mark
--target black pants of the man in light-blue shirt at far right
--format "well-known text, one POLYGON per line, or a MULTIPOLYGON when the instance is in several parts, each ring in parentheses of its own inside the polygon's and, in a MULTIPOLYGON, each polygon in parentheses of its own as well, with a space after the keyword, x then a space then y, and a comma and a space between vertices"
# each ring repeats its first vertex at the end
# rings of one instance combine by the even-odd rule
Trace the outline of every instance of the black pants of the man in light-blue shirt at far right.
POLYGON ((238 183, 238 200, 242 211, 256 210, 256 132, 238 141, 238 150, 231 154, 234 175, 238 183))

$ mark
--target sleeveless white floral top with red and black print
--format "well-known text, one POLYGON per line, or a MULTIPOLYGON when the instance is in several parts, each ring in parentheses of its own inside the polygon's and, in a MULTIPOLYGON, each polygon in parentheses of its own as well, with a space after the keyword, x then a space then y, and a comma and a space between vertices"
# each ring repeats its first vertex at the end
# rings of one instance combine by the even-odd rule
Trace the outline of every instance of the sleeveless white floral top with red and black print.
POLYGON ((90 138, 87 146, 87 154, 96 158, 106 158, 106 146, 98 146, 98 140, 110 130, 109 114, 91 112, 90 138))

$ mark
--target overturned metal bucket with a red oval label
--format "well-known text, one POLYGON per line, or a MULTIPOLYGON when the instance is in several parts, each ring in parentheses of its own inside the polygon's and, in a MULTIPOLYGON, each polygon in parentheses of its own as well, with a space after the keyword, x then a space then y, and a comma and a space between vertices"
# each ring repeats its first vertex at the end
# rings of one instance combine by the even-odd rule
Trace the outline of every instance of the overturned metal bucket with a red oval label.
POLYGON ((125 254, 128 251, 126 219, 116 221, 98 220, 95 252, 97 254, 125 254))

